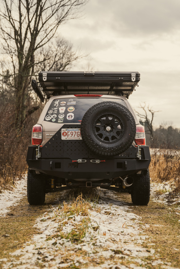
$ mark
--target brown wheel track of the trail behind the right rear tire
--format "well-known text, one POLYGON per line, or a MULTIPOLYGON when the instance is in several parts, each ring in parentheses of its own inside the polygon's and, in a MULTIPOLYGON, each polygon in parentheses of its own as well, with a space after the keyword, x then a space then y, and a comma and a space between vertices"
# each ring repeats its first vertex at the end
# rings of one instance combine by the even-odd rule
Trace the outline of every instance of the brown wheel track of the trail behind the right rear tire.
MULTIPOLYGON (((126 193, 119 195, 122 200, 131 203, 129 195, 126 193)), ((143 247, 153 248, 162 264, 170 262, 171 266, 180 268, 180 215, 177 214, 180 210, 177 208, 179 208, 177 204, 166 205, 150 199, 148 206, 133 206, 133 213, 142 217, 142 224, 150 226, 145 230, 149 238, 144 241, 143 247)), ((160 268, 160 265, 152 268, 160 268)))

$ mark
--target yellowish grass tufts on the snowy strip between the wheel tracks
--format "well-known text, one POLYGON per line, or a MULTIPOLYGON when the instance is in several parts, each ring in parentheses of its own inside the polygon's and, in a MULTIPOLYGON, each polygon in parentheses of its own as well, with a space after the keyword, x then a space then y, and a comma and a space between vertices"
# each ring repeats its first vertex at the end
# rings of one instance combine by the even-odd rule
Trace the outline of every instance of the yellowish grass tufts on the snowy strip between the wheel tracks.
POLYGON ((50 236, 47 240, 64 238, 70 240, 72 243, 76 242, 79 244, 86 236, 90 227, 93 230, 97 230, 98 224, 97 227, 92 227, 89 217, 91 211, 100 212, 98 197, 96 199, 94 197, 96 196, 90 192, 88 197, 83 199, 81 193, 77 198, 74 196, 70 197, 68 203, 64 201, 63 206, 59 205, 58 208, 52 208, 54 215, 51 221, 58 222, 59 227, 57 233, 50 236), (89 201, 92 199, 94 199, 94 202, 90 203, 89 201), (79 219, 76 217, 79 217, 79 219))

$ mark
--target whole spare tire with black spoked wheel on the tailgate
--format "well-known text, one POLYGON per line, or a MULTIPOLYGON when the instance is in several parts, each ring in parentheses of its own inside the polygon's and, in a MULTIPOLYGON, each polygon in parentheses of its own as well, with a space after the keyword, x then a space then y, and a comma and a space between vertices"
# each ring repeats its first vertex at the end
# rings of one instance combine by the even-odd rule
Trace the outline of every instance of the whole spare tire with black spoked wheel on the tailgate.
POLYGON ((84 114, 81 135, 96 154, 113 156, 131 146, 136 135, 136 123, 125 106, 116 102, 101 102, 84 114))

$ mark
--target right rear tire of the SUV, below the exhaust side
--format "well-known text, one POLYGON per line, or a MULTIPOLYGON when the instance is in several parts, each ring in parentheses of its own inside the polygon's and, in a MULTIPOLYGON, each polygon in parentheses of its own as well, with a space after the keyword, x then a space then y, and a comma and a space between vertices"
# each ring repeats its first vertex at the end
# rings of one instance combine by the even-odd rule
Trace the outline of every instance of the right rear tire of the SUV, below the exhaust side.
POLYGON ((134 177, 133 190, 131 193, 132 203, 135 205, 147 205, 150 199, 150 175, 149 169, 144 174, 134 177))

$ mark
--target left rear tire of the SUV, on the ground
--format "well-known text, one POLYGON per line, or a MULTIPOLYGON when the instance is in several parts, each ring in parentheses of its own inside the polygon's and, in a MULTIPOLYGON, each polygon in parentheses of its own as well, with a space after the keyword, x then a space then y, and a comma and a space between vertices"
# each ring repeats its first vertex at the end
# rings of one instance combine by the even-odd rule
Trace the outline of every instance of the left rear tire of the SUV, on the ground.
POLYGON ((45 181, 42 174, 28 169, 27 195, 30 205, 42 205, 45 201, 45 181))

